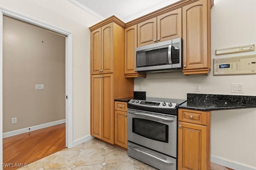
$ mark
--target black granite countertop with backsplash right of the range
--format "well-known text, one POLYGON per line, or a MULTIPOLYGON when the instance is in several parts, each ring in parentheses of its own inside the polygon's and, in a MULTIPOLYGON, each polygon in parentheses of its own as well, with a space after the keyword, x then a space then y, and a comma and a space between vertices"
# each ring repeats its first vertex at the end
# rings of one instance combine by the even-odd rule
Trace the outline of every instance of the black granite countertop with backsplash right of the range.
POLYGON ((187 102, 178 107, 202 111, 256 108, 256 96, 187 94, 187 102))

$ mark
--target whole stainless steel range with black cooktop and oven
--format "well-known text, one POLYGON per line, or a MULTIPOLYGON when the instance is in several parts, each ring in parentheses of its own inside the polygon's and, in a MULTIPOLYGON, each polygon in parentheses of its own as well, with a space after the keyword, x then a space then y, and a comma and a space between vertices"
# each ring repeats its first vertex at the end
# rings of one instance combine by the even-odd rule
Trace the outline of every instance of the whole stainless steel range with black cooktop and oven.
POLYGON ((177 106, 186 100, 128 102, 128 155, 160 170, 176 170, 177 106))

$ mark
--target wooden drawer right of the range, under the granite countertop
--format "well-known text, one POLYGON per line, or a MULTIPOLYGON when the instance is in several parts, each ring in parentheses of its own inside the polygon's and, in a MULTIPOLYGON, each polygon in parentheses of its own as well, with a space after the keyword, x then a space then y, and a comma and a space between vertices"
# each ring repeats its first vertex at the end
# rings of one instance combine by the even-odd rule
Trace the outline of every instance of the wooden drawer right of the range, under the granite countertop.
POLYGON ((178 109, 178 120, 199 125, 208 125, 210 111, 178 109))

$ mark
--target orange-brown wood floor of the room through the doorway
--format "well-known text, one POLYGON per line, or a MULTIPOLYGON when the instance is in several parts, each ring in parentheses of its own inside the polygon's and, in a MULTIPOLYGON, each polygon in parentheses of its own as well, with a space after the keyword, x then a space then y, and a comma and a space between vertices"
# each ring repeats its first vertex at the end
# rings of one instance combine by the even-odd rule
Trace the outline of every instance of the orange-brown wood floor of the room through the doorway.
MULTIPOLYGON (((66 148, 66 125, 62 123, 44 129, 3 139, 3 162, 30 164, 66 148)), ((17 167, 3 168, 15 170, 17 167)))

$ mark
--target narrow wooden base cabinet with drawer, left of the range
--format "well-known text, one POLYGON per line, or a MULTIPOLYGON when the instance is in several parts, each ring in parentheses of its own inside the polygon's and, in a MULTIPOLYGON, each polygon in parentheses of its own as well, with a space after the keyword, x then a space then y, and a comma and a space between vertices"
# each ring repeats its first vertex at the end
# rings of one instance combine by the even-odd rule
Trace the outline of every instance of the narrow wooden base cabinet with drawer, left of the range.
POLYGON ((115 144, 127 149, 127 103, 115 102, 115 144))

